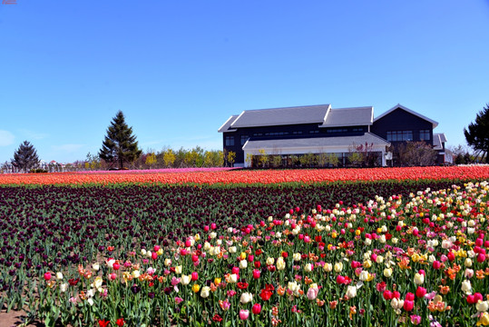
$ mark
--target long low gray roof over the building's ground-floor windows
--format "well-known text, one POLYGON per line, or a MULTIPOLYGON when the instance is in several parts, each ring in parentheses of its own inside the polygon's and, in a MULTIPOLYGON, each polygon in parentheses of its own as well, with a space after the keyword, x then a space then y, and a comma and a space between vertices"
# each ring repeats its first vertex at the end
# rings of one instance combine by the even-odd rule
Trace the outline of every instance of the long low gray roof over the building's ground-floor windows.
POLYGON ((330 137, 304 137, 297 139, 281 140, 249 140, 243 145, 243 150, 267 150, 267 149, 286 149, 286 148, 318 148, 349 146, 352 144, 374 144, 374 146, 388 146, 386 140, 375 134, 366 133, 355 136, 330 136, 330 137))

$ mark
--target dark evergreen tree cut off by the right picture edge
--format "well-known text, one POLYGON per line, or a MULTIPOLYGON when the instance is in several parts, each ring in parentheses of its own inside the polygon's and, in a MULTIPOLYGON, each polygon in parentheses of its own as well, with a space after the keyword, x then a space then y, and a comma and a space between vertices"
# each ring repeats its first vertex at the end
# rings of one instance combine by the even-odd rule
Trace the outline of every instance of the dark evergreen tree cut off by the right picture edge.
MULTIPOLYGON (((475 122, 464 128, 465 140, 474 150, 482 153, 482 159, 489 153, 489 104, 475 117, 475 122)), ((486 158, 487 161, 487 158, 486 158)))

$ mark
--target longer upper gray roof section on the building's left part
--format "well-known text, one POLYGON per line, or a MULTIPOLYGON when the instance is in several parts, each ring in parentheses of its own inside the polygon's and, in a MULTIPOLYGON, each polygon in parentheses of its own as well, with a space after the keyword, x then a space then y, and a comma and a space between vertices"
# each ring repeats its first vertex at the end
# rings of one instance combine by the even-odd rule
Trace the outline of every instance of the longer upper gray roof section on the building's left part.
POLYGON ((287 108, 245 110, 230 124, 230 128, 257 127, 286 124, 322 124, 330 104, 287 108))

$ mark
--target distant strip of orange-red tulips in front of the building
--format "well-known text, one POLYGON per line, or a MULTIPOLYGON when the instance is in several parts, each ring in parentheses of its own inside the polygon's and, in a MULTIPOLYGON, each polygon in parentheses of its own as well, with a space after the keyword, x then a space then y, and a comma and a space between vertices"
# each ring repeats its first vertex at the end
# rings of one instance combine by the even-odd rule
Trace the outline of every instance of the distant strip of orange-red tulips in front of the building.
POLYGON ((489 178, 489 166, 311 170, 225 170, 191 173, 27 173, 0 175, 0 184, 86 183, 322 183, 380 180, 466 180, 489 178))

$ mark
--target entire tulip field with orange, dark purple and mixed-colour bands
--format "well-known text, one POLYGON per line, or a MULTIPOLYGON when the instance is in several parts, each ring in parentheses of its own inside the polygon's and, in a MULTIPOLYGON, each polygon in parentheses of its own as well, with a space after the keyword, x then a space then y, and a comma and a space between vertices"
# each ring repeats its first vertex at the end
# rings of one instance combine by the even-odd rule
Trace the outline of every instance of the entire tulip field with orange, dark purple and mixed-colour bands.
POLYGON ((487 326, 486 180, 488 166, 0 175, 0 323, 487 326))

